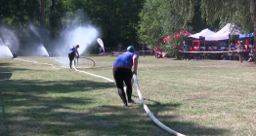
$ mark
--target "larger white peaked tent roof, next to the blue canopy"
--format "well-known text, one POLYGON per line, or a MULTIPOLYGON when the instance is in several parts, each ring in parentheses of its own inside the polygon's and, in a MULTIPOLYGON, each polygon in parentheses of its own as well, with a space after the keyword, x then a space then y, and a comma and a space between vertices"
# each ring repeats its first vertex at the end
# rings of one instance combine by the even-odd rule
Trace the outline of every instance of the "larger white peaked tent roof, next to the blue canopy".
POLYGON ((235 29, 235 25, 234 24, 228 23, 220 31, 218 31, 217 33, 215 33, 213 35, 210 35, 210 36, 206 36, 205 40, 206 41, 226 40, 226 39, 229 39, 229 36, 231 34, 238 35, 239 34, 239 30, 235 29))

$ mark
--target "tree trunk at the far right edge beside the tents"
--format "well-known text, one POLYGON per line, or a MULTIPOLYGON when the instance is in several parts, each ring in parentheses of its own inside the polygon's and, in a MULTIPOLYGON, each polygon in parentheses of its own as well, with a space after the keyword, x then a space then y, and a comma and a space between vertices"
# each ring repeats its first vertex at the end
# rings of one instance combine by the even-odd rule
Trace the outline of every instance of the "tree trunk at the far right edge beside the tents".
POLYGON ((254 53, 254 62, 256 63, 256 20, 255 20, 255 1, 254 0, 248 0, 250 4, 250 14, 251 14, 251 19, 253 22, 253 30, 254 30, 254 44, 253 44, 253 53, 254 53))

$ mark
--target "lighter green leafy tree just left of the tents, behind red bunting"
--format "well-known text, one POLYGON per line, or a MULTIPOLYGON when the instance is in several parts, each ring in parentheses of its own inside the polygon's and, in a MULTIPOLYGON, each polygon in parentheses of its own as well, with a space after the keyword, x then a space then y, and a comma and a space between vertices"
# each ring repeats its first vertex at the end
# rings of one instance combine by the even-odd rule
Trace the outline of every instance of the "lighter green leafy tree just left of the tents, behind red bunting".
MULTIPOLYGON (((194 0, 146 0, 144 8, 140 13, 138 35, 140 39, 149 44, 151 48, 155 45, 162 46, 159 39, 169 35, 175 35, 181 30, 191 30, 188 24, 193 17, 194 0)), ((178 53, 174 46, 181 47, 184 37, 165 43, 162 48, 170 54, 178 53)))

